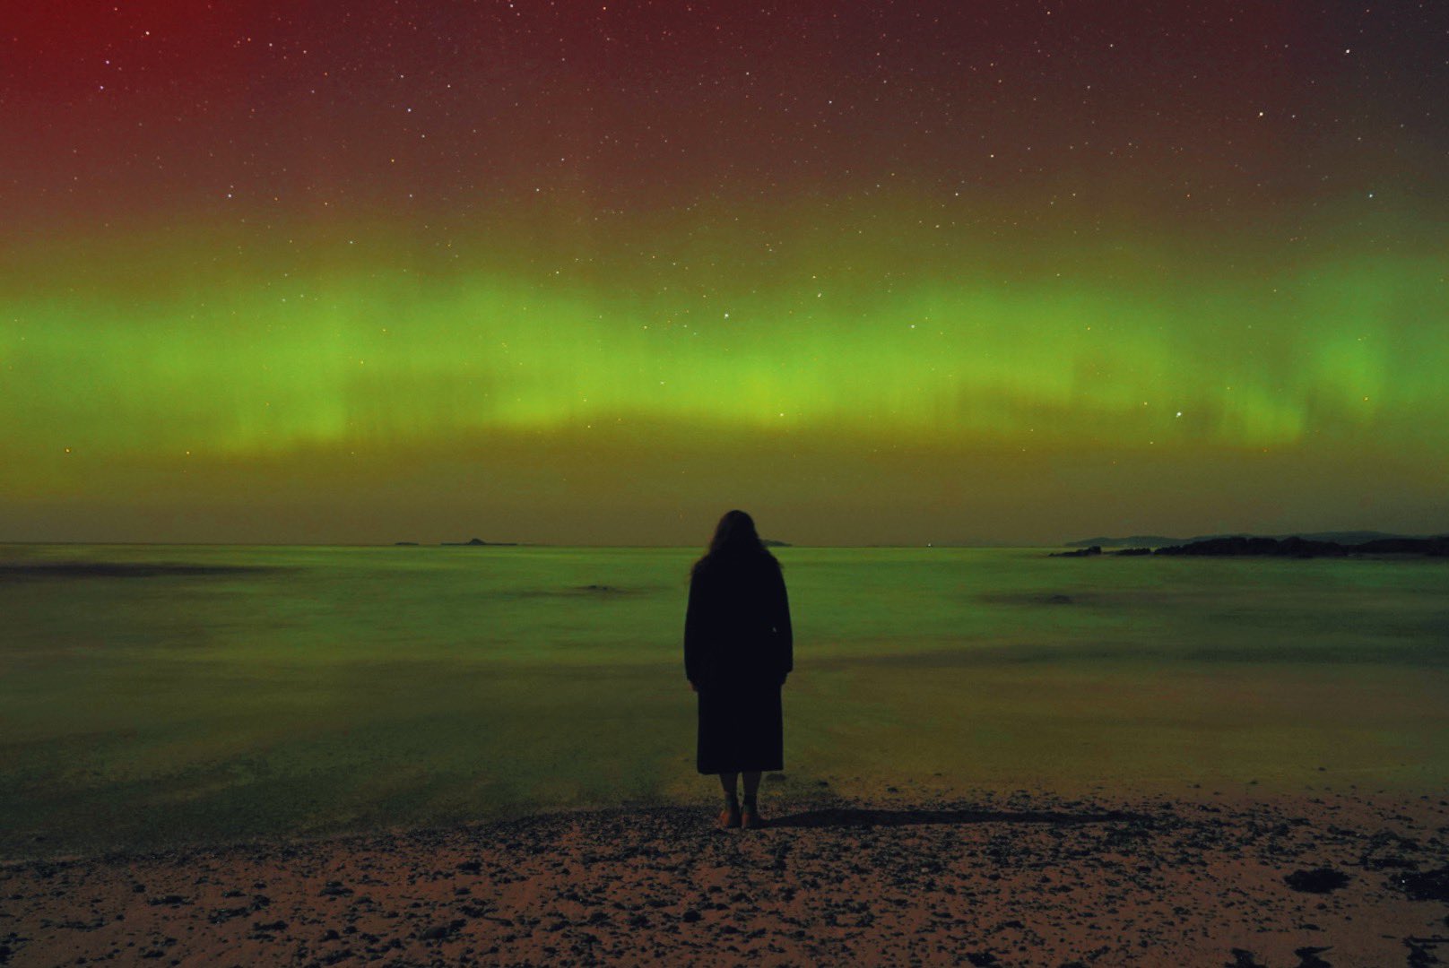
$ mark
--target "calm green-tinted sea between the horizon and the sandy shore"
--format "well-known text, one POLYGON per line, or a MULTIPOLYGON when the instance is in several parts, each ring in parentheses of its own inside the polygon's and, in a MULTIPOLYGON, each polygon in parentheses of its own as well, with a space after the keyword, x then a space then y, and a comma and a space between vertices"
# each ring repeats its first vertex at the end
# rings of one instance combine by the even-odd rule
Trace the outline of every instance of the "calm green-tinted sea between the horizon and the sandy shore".
MULTIPOLYGON (((713 797, 697 554, 0 545, 0 856, 713 797)), ((778 556, 777 788, 1449 783, 1449 562, 778 556)))

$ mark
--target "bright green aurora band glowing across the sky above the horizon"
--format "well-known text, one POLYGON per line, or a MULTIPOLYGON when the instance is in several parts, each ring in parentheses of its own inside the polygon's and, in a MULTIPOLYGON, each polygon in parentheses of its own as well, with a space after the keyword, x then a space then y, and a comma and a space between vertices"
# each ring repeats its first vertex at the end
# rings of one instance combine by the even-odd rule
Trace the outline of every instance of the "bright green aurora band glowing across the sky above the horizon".
MULTIPOLYGON (((551 441, 577 451, 543 461, 564 475, 607 454, 659 475, 711 448, 762 465, 885 448, 901 480, 858 481, 882 494, 922 455, 982 451, 1156 452, 1127 475, 1248 449, 1369 454, 1417 465, 1426 497, 1445 480, 1449 287, 1432 245, 1365 259, 1340 239, 1274 264, 1126 233, 1003 251, 898 200, 872 223, 914 233, 810 216, 794 238, 765 219, 632 225, 633 246, 562 256, 498 235, 439 251, 385 225, 301 226, 283 254, 154 232, 72 243, 88 268, 64 287, 45 281, 67 254, 33 245, 0 322, 6 497, 116 500, 175 468, 200 494, 243 493, 248 467, 345 454, 356 474, 359 455, 375 471, 503 439, 522 465, 551 441)), ((1395 230, 1432 238, 1408 216, 1395 230)))

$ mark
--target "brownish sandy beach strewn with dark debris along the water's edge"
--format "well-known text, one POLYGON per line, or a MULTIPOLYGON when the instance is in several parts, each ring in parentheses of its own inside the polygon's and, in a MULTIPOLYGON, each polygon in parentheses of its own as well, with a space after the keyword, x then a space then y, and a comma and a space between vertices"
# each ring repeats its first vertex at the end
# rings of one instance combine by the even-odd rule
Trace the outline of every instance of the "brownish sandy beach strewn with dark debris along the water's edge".
POLYGON ((0 964, 1433 965, 1449 800, 910 788, 0 867, 0 964))

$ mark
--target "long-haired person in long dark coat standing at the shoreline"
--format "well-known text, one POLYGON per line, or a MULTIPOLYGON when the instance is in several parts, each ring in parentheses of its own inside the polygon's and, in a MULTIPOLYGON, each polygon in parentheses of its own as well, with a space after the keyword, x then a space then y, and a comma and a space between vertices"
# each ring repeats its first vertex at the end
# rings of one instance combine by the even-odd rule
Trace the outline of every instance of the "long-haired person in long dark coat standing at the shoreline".
POLYGON ((790 598, 775 559, 742 510, 726 512, 690 571, 684 674, 698 696, 696 767, 724 790, 723 827, 765 825, 759 777, 784 769, 780 690, 794 671, 790 598), (745 803, 736 778, 745 774, 745 803))

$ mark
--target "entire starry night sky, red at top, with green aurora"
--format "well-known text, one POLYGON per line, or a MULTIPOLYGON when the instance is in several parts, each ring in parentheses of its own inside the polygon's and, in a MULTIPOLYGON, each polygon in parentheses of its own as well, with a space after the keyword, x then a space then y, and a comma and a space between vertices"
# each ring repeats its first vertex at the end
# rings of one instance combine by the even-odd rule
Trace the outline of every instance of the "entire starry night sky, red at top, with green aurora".
POLYGON ((1433 7, 22 4, 0 541, 1449 530, 1433 7))

